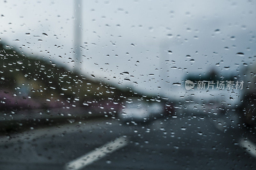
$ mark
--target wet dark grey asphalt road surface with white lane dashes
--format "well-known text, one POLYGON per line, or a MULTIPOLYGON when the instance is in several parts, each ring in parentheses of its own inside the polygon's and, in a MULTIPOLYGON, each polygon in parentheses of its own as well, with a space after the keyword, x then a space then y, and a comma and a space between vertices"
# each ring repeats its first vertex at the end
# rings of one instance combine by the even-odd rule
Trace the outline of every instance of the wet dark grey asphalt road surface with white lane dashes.
POLYGON ((255 169, 255 137, 235 112, 97 119, 2 136, 0 169, 255 169))

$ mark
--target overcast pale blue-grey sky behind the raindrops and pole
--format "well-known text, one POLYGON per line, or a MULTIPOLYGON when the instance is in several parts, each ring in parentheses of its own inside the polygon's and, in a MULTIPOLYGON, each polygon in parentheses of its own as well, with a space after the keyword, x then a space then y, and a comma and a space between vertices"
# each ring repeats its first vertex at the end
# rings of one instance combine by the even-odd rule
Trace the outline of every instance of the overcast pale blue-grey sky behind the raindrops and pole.
MULTIPOLYGON (((184 89, 172 83, 186 74, 237 75, 255 62, 255 2, 83 1, 81 8, 82 73, 113 85, 170 96, 184 89)), ((75 60, 74 1, 7 0, 0 15, 2 41, 69 69, 75 64, 68 63, 75 60)))

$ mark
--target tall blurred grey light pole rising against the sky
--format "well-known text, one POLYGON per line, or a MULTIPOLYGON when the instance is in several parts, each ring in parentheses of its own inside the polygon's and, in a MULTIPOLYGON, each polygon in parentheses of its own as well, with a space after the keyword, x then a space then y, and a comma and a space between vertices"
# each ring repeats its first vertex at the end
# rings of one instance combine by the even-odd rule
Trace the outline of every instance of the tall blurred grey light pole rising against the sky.
MULTIPOLYGON (((81 57, 81 42, 82 42, 82 1, 81 0, 75 0, 75 6, 74 6, 74 13, 75 13, 75 23, 74 23, 74 52, 75 52, 75 58, 76 66, 78 66, 79 69, 82 62, 81 57)), ((76 68, 75 68, 76 69, 76 68)), ((78 71, 78 70, 77 70, 78 71)))

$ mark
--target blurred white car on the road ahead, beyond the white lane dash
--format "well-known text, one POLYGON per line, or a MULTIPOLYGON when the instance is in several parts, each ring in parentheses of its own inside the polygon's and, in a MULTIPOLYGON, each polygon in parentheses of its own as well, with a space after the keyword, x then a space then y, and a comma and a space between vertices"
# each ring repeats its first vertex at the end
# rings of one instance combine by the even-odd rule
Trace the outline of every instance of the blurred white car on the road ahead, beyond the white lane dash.
POLYGON ((125 101, 125 107, 120 110, 118 117, 123 122, 147 122, 166 113, 171 114, 171 108, 163 102, 130 98, 125 101))

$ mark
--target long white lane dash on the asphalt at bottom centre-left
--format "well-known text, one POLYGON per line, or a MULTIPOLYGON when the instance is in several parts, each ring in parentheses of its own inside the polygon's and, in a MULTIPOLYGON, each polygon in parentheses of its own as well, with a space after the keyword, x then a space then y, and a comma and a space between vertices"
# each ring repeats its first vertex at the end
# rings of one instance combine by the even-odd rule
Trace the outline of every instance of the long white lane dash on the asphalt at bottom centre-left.
POLYGON ((66 169, 77 170, 81 169, 84 166, 91 164, 92 162, 103 158, 108 153, 114 152, 118 149, 121 149, 128 144, 127 138, 118 137, 114 141, 108 142, 107 144, 97 148, 95 151, 89 152, 75 160, 72 160, 66 165, 66 169))

